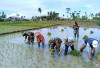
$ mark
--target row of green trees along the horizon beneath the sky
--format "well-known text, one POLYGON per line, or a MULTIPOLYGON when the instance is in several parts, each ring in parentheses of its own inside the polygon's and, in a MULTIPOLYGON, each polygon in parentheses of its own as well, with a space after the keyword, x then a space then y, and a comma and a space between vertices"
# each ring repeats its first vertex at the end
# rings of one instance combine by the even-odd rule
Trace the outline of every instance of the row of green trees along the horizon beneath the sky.
MULTIPOLYGON (((45 16, 41 16, 41 8, 38 8, 38 12, 40 13, 40 16, 32 16, 33 20, 43 20, 44 18, 46 18, 47 20, 89 20, 89 18, 91 18, 91 20, 100 20, 100 12, 96 14, 88 14, 87 12, 84 12, 82 15, 81 11, 71 12, 71 8, 66 8, 66 13, 62 15, 62 18, 60 18, 59 13, 55 11, 48 11, 45 16)), ((16 14, 16 16, 19 17, 20 15, 16 14)), ((7 17, 4 11, 0 12, 0 21, 4 21, 5 18, 7 17)), ((26 20, 25 16, 21 16, 20 20, 26 20)))

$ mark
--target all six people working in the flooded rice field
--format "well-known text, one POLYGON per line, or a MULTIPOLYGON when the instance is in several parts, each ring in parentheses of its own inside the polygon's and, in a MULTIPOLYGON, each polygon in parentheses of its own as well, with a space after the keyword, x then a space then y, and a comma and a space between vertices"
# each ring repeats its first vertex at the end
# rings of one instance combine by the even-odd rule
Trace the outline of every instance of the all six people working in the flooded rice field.
MULTIPOLYGON (((77 22, 75 22, 75 25, 73 25, 73 29, 74 29, 74 36, 76 38, 79 37, 79 24, 77 22)), ((44 36, 40 33, 40 32, 26 32, 23 34, 23 36, 25 36, 25 41, 26 39, 28 39, 28 43, 34 43, 34 38, 36 37, 36 41, 38 43, 38 46, 40 47, 40 43, 42 43, 42 46, 44 47, 44 36)), ((62 40, 58 37, 54 37, 51 38, 48 42, 48 49, 50 51, 55 52, 55 50, 57 51, 58 55, 61 54, 63 48, 65 47, 65 51, 64 51, 64 55, 67 55, 68 52, 68 48, 71 47, 72 50, 74 50, 74 42, 75 42, 75 38, 73 37, 65 37, 64 38, 64 44, 65 45, 61 45, 62 44, 62 40)), ((83 52, 83 50, 85 49, 85 47, 87 47, 87 53, 89 56, 89 59, 91 58, 91 55, 94 56, 95 53, 95 49, 98 46, 98 40, 94 39, 94 38, 88 38, 84 40, 84 43, 82 45, 82 47, 80 48, 80 51, 83 52), (91 53, 89 51, 89 48, 91 48, 91 53)))

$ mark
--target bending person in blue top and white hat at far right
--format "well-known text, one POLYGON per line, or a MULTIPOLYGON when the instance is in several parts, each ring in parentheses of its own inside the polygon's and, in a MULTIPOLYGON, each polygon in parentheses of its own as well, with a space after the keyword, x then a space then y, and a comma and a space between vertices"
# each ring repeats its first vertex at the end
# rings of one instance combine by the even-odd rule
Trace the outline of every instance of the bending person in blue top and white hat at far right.
POLYGON ((87 53, 88 53, 88 57, 89 59, 91 60, 91 55, 90 55, 90 48, 91 48, 91 53, 92 53, 92 56, 94 56, 94 53, 95 53, 95 49, 98 47, 98 41, 94 38, 88 38, 88 39, 85 39, 84 40, 84 44, 82 45, 80 51, 83 52, 83 50, 87 49, 87 53))

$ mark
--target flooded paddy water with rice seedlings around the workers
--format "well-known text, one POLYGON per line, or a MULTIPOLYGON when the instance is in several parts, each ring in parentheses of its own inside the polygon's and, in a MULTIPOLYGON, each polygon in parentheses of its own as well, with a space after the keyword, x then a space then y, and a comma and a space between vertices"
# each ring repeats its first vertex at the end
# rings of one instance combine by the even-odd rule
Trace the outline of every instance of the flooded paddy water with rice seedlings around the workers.
MULTIPOLYGON (((64 49, 60 56, 57 56, 56 52, 54 56, 50 55, 48 51, 50 38, 59 37, 63 40, 64 37, 74 37, 73 29, 71 27, 64 29, 64 27, 67 26, 32 30, 32 32, 38 31, 44 35, 46 40, 44 49, 42 46, 38 48, 36 40, 34 45, 25 43, 21 33, 0 36, 0 68, 99 68, 100 61, 98 62, 96 56, 92 61, 89 60, 86 49, 80 57, 70 54, 64 56, 64 49), (61 29, 64 31, 61 32, 61 29), (51 36, 47 35, 48 32, 51 32, 51 36)), ((100 40, 100 29, 89 28, 85 31, 80 28, 79 38, 75 41, 75 48, 78 50, 84 42, 82 40, 84 35, 100 40), (94 31, 94 34, 90 34, 90 31, 94 31)))

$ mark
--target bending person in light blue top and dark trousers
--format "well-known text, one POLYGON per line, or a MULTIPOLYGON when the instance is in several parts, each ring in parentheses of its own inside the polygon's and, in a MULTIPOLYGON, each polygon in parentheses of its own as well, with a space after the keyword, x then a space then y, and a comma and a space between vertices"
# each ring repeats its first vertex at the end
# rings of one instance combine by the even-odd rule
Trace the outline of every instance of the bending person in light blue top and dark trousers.
MULTIPOLYGON (((67 55, 67 51, 68 51, 69 46, 71 47, 72 50, 74 50, 75 39, 72 38, 72 37, 66 37, 66 38, 64 38, 64 40, 65 40, 65 52, 64 52, 64 55, 67 55)), ((63 50, 63 48, 64 48, 64 45, 61 46, 59 55, 60 55, 61 51, 63 50)))

